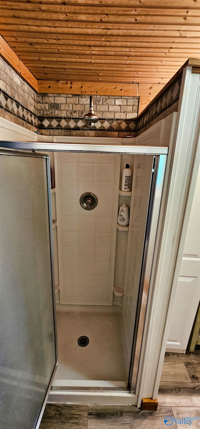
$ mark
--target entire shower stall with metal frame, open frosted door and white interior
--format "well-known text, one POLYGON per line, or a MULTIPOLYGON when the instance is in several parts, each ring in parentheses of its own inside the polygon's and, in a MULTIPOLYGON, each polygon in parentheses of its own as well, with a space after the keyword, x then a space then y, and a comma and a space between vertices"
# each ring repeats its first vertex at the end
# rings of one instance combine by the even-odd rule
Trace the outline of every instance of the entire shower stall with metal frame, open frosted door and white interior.
POLYGON ((75 386, 135 392, 167 148, 40 142, 0 142, 0 147, 0 411, 5 429, 16 420, 21 429, 38 428, 52 383, 55 393, 75 386), (42 151, 55 153, 55 196, 49 157, 42 151), (125 192, 119 187, 127 162, 133 171, 126 193, 130 222, 120 227, 125 192), (89 193, 97 196, 93 210, 89 193), (86 374, 92 361, 93 372, 86 374), (102 361, 110 366, 107 377, 100 375, 102 361))

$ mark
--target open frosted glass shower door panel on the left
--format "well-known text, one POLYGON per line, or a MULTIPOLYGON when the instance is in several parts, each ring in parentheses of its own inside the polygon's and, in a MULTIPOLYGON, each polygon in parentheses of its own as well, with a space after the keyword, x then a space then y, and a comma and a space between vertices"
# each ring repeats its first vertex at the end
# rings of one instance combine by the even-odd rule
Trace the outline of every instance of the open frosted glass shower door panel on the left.
POLYGON ((37 427, 57 362, 47 165, 43 155, 0 154, 3 429, 37 427))

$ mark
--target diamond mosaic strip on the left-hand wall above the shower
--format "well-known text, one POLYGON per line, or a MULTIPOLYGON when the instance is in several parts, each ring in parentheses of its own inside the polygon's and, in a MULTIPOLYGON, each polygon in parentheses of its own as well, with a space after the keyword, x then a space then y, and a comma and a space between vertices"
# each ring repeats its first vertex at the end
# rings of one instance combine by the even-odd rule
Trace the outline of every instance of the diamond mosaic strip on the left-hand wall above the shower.
POLYGON ((9 112, 12 115, 16 116, 22 121, 27 122, 27 124, 33 125, 33 127, 38 126, 37 116, 31 112, 27 107, 24 107, 21 103, 18 103, 10 95, 6 94, 3 90, 0 89, 0 108, 9 112))

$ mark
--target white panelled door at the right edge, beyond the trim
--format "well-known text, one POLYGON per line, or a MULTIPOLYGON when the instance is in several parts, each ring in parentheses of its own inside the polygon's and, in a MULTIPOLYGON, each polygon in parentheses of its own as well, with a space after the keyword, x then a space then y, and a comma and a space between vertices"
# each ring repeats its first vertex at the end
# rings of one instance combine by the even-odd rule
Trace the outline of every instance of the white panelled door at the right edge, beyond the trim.
POLYGON ((185 240, 167 351, 183 353, 200 301, 200 169, 185 240))

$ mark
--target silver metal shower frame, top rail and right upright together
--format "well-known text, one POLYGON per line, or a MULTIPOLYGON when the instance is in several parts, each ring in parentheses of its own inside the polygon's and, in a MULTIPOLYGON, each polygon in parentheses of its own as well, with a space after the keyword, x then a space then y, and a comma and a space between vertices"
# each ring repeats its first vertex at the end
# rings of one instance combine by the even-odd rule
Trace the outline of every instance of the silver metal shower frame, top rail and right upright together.
MULTIPOLYGON (((151 267, 154 258, 154 251, 149 251, 149 248, 154 248, 157 225, 161 205, 161 196, 164 183, 165 167, 167 162, 167 147, 160 146, 131 146, 131 145, 100 145, 100 144, 84 144, 84 143, 49 143, 49 142, 17 142, 17 141, 0 141, 0 148, 14 149, 17 151, 47 151, 47 152, 82 152, 82 153, 107 153, 107 154, 130 154, 130 155, 152 155, 158 160, 158 168, 154 175, 154 192, 149 198, 152 204, 151 218, 146 225, 148 229, 148 245, 143 249, 143 266, 141 270, 140 282, 142 285, 141 295, 139 297, 139 312, 137 314, 137 332, 135 332, 135 341, 133 338, 134 353, 131 356, 130 376, 129 376, 129 391, 135 392, 137 373, 139 368, 140 352, 142 347, 142 334, 145 324, 145 314, 147 308, 147 300, 149 293, 151 267)), ((51 240, 51 252, 53 254, 53 243, 51 240)), ((53 273, 52 273, 53 274, 53 273)), ((77 389, 78 390, 78 389, 77 389)), ((101 390, 107 390, 101 388, 101 390)))

